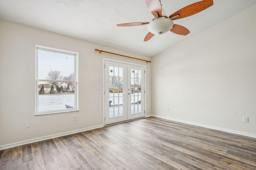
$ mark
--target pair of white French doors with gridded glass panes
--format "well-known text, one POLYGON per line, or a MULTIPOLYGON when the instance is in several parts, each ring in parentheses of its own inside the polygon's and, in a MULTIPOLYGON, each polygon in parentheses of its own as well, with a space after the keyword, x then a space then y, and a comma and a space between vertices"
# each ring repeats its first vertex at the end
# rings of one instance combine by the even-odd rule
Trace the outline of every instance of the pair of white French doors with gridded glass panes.
POLYGON ((105 61, 105 125, 145 116, 144 66, 105 61))

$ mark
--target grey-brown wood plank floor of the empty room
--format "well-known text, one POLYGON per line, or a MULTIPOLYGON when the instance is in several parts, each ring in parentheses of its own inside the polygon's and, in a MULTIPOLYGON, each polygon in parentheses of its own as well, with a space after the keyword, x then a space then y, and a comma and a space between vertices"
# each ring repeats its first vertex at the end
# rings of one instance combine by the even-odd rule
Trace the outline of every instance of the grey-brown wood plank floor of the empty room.
POLYGON ((0 170, 256 170, 256 139, 148 117, 0 155, 0 170))

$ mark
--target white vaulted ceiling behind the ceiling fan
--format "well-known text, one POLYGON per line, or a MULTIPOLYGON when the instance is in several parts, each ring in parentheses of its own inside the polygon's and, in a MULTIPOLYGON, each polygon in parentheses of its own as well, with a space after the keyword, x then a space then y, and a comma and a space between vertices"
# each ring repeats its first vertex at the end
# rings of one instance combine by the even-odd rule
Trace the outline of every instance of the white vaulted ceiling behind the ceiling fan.
MULTIPOLYGON (((169 16, 198 1, 162 0, 161 3, 169 16)), ((118 23, 151 21, 154 17, 144 0, 0 0, 0 18, 154 56, 253 4, 256 4, 256 0, 214 0, 210 8, 174 20, 174 23, 188 28, 190 34, 182 36, 169 31, 164 35, 155 35, 147 42, 143 41, 148 33, 146 25, 116 26, 118 23)))

